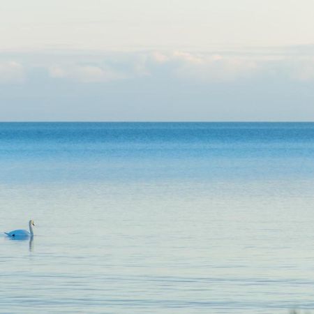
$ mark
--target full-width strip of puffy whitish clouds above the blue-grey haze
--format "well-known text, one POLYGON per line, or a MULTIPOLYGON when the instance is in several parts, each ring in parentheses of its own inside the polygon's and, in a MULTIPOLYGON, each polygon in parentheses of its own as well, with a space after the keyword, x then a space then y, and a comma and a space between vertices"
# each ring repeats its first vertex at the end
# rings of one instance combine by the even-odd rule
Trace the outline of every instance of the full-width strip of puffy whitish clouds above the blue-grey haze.
POLYGON ((212 84, 254 80, 314 81, 314 57, 290 50, 244 52, 59 52, 19 54, 22 63, 0 54, 0 83, 23 82, 38 69, 55 80, 106 83, 158 78, 212 84), (24 59, 23 59, 24 58, 24 59), (22 66, 23 64, 23 66, 22 66))

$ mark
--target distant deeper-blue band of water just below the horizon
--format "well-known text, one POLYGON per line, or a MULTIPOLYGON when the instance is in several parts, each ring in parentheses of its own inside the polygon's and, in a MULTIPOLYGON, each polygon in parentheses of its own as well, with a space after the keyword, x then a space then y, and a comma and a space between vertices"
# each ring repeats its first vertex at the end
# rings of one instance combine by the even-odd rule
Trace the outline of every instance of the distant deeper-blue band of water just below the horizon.
POLYGON ((0 124, 4 182, 313 177, 313 154, 310 123, 0 124))

